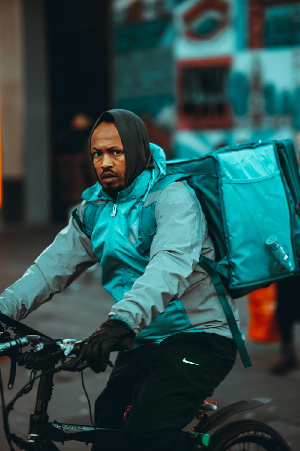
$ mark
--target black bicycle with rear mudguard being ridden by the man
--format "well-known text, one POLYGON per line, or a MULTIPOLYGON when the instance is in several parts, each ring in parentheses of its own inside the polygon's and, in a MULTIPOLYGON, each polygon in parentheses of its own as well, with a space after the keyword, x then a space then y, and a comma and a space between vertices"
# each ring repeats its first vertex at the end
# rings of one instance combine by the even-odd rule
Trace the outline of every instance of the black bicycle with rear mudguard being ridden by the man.
MULTIPOLYGON (((34 372, 34 377, 18 391, 7 406, 4 403, 3 382, 0 373, 4 431, 10 449, 14 451, 13 442, 20 449, 26 451, 58 451, 54 442, 75 440, 86 444, 101 443, 107 447, 119 447, 121 451, 122 446, 124 446, 122 430, 96 428, 92 420, 91 409, 91 425, 49 422, 47 407, 54 388, 54 374, 59 371, 77 371, 81 372, 81 377, 83 377, 82 372, 87 368, 87 363, 83 358, 86 342, 84 340, 76 341, 75 339, 53 340, 3 313, 0 313, 0 321, 7 324, 15 333, 13 339, 9 338, 9 341, 0 344, 0 357, 8 355, 12 360, 9 382, 13 383, 16 363, 34 372), (33 349, 21 352, 21 349, 28 345, 31 345, 33 349), (37 371, 41 372, 38 376, 36 376, 37 371), (9 412, 13 410, 14 403, 33 388, 36 379, 40 379, 36 406, 30 415, 29 434, 27 441, 25 441, 10 432, 8 416, 9 412)), ((123 345, 127 349, 125 341, 123 345)), ((85 394, 87 396, 86 391, 85 394)), ((269 401, 271 401, 269 398, 246 399, 216 411, 217 403, 206 400, 199 408, 198 423, 189 431, 184 432, 192 437, 201 451, 291 451, 284 438, 265 423, 240 420, 222 426, 224 421, 234 414, 255 409, 269 401), (211 431, 213 433, 210 436, 211 431)), ((124 422, 130 414, 131 407, 124 406, 124 422)))

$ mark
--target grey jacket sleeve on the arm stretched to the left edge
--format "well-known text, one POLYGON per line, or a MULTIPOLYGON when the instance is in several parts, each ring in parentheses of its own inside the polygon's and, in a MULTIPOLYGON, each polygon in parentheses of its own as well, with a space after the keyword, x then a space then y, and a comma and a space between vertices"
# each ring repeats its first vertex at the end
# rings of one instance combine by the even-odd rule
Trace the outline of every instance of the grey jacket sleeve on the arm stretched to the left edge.
MULTIPOLYGON (((84 205, 82 202, 78 207, 81 218, 84 205)), ((96 262, 91 240, 71 218, 68 226, 58 233, 25 274, 4 290, 0 296, 0 312, 14 319, 26 318, 96 262)))

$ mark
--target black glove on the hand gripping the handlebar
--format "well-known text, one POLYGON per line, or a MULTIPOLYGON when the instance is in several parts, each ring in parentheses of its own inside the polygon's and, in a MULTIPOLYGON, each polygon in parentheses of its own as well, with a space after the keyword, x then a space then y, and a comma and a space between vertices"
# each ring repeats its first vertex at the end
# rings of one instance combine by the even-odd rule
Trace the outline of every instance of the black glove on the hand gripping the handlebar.
POLYGON ((95 373, 105 371, 109 364, 109 354, 112 351, 132 349, 134 337, 134 331, 124 321, 107 319, 87 340, 85 358, 89 367, 95 373), (124 339, 127 340, 123 341, 124 339))

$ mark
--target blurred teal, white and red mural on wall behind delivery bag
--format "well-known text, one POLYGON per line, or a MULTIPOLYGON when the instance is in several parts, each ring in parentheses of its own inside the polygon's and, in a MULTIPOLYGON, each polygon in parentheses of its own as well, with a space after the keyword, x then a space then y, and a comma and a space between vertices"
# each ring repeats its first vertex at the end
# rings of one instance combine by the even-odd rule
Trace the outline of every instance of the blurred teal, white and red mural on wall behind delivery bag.
POLYGON ((260 0, 113 5, 114 106, 159 132, 170 157, 296 137, 300 1, 270 0, 260 14, 260 0))

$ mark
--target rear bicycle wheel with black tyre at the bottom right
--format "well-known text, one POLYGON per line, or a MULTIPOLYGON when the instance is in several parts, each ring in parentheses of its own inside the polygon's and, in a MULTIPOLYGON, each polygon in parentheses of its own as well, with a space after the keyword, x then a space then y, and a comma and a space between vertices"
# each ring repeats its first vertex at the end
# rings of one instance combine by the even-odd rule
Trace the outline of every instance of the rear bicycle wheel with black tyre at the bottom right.
POLYGON ((242 420, 229 423, 210 437, 210 451, 291 451, 284 438, 268 424, 242 420))

